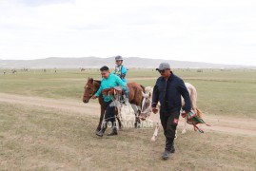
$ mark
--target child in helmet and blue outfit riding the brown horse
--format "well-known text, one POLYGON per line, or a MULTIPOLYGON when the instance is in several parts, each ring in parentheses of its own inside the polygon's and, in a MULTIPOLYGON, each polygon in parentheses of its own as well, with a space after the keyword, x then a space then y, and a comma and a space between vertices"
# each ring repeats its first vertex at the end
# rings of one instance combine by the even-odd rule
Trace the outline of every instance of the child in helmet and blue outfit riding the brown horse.
MULTIPOLYGON (((114 69, 114 74, 117 75, 118 77, 120 77, 122 79, 122 81, 124 83, 128 83, 127 79, 126 79, 126 75, 128 73, 128 69, 123 65, 123 57, 120 55, 115 56, 115 69, 114 69)), ((127 89, 124 91, 124 101, 125 104, 128 104, 128 94, 129 94, 129 89, 127 86, 127 89)))

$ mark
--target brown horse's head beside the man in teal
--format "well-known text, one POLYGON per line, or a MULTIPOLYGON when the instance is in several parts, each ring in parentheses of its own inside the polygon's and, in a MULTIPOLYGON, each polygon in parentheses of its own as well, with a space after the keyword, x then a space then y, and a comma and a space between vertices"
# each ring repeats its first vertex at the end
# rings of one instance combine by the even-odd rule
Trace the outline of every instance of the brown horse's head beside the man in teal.
POLYGON ((89 99, 97 92, 99 89, 99 83, 93 80, 93 78, 88 78, 88 82, 84 87, 85 92, 83 96, 83 102, 89 103, 89 99))

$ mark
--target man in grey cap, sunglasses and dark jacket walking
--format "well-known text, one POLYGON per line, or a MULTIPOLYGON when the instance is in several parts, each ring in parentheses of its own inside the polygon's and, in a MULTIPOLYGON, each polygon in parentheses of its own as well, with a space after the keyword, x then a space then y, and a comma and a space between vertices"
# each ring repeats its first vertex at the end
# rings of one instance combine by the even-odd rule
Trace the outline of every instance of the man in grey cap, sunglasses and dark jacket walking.
POLYGON ((168 159, 170 153, 174 153, 174 138, 176 127, 179 122, 180 110, 182 107, 181 96, 185 100, 183 110, 190 111, 191 104, 189 93, 184 81, 174 75, 167 63, 161 63, 156 70, 159 71, 159 77, 154 85, 152 97, 152 111, 157 113, 156 105, 160 102, 160 119, 166 136, 166 148, 162 158, 168 159))

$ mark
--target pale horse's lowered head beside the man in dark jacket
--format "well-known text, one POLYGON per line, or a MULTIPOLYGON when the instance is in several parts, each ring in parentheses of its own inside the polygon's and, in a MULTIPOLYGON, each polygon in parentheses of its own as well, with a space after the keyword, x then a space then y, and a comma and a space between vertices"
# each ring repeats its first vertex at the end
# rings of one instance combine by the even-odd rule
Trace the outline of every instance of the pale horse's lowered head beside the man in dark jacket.
POLYGON ((142 101, 142 108, 141 108, 141 114, 140 114, 140 119, 143 121, 146 120, 152 112, 151 110, 152 90, 151 89, 147 90, 147 87, 145 90, 146 90, 145 93, 142 91, 143 101, 142 101))

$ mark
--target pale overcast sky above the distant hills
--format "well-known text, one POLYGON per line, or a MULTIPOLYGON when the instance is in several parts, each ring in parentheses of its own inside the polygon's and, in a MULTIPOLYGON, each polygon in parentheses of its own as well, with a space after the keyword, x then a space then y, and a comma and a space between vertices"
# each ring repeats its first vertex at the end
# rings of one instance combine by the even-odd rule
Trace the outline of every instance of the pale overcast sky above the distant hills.
POLYGON ((256 66, 255 0, 0 0, 0 59, 256 66))

